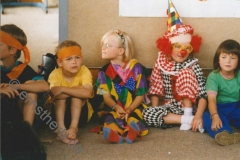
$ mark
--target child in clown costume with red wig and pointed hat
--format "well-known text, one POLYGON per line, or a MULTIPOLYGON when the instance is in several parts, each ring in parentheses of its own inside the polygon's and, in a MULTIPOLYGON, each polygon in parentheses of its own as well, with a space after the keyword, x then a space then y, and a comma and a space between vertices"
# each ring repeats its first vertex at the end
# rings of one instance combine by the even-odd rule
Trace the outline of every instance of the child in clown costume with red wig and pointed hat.
POLYGON ((157 40, 160 52, 150 77, 148 95, 152 106, 143 111, 143 116, 150 126, 165 129, 171 124, 181 124, 180 130, 192 128, 203 132, 206 80, 198 59, 193 57, 193 53, 199 51, 202 38, 193 35, 190 25, 182 23, 170 0, 168 19, 168 31, 157 40), (162 106, 160 97, 164 98, 162 106))

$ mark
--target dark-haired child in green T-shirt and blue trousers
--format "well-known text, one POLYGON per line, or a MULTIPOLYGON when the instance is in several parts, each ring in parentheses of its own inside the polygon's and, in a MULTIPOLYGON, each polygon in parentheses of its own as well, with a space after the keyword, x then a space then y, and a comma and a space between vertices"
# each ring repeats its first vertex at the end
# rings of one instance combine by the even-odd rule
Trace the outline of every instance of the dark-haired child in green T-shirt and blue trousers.
POLYGON ((223 41, 213 60, 214 71, 207 78, 208 111, 203 115, 204 128, 220 145, 240 142, 240 45, 223 41))

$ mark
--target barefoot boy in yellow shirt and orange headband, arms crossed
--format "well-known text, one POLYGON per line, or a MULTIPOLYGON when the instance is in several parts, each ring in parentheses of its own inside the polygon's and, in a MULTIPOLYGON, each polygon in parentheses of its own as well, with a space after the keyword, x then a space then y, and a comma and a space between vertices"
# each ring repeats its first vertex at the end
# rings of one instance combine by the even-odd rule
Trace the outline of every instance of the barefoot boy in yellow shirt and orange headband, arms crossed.
POLYGON ((57 140, 75 145, 78 127, 92 117, 93 109, 88 98, 93 96, 92 74, 82 65, 81 46, 72 40, 63 41, 56 49, 58 68, 48 78, 50 95, 54 99, 57 122, 57 140), (70 124, 65 123, 65 111, 70 109, 70 124))

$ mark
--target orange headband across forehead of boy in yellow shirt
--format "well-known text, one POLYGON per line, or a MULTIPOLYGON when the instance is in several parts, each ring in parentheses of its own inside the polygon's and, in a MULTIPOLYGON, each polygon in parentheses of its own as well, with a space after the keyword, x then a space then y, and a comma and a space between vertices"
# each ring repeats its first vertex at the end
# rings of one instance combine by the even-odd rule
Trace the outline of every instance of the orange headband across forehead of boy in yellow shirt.
POLYGON ((57 56, 59 60, 63 60, 68 56, 77 55, 82 57, 82 52, 79 46, 71 46, 61 49, 57 56))

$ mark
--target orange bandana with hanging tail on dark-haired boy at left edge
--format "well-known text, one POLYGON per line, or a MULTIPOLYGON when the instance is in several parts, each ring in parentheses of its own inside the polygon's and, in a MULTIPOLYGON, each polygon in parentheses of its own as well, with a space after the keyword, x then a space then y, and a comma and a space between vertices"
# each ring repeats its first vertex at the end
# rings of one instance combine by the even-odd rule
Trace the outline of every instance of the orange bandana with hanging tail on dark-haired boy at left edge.
POLYGON ((0 31, 0 42, 6 44, 8 46, 14 47, 18 50, 22 50, 24 53, 24 59, 25 59, 24 63, 14 67, 12 69, 12 71, 7 74, 7 76, 10 79, 15 79, 22 73, 22 71, 27 66, 28 62, 30 61, 29 50, 28 50, 27 46, 22 46, 22 44, 17 39, 15 39, 11 35, 9 35, 6 32, 3 32, 3 31, 0 31))

